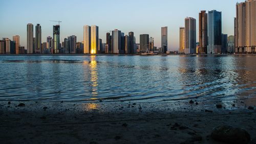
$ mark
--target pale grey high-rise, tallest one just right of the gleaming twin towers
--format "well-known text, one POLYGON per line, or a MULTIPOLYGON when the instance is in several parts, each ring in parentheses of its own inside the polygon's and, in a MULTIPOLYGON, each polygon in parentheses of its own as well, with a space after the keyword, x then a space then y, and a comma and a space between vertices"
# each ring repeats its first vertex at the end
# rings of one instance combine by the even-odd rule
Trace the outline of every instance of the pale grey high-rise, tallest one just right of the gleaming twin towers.
POLYGON ((121 31, 115 29, 112 31, 112 53, 119 53, 121 51, 121 31))

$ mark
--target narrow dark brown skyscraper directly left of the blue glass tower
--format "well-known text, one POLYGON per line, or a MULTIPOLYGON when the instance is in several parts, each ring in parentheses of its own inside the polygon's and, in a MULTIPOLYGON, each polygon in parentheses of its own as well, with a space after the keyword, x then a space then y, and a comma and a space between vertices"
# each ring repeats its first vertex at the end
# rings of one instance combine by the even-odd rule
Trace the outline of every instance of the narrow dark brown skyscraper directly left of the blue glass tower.
POLYGON ((208 15, 206 11, 199 13, 199 49, 198 53, 207 53, 208 45, 208 15))

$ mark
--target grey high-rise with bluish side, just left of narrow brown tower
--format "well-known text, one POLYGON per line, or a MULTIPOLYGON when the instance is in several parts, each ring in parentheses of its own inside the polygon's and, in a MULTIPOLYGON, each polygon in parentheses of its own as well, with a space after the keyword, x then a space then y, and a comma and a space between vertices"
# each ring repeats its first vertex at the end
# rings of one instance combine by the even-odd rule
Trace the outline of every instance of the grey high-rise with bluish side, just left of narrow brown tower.
POLYGON ((185 53, 196 53, 196 19, 185 18, 185 53))

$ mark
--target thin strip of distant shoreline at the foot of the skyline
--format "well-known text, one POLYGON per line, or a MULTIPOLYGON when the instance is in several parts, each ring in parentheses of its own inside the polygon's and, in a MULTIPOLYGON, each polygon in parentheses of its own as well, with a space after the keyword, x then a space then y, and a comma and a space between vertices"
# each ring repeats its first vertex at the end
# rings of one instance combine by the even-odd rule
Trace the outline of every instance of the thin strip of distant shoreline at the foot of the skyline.
MULTIPOLYGON (((107 53, 102 53, 102 54, 65 54, 65 53, 56 53, 56 54, 0 54, 1 55, 5 55, 5 56, 42 56, 42 55, 47 55, 47 56, 83 56, 83 55, 97 55, 97 56, 100 56, 100 55, 140 55, 140 54, 107 54, 107 53)), ((211 55, 214 55, 214 56, 227 56, 227 55, 256 55, 256 53, 252 53, 252 54, 157 54, 158 56, 160 55, 202 55, 202 56, 211 56, 211 55)), ((157 55, 150 55, 150 56, 157 56, 157 55)), ((147 55, 148 56, 148 55, 147 55)))

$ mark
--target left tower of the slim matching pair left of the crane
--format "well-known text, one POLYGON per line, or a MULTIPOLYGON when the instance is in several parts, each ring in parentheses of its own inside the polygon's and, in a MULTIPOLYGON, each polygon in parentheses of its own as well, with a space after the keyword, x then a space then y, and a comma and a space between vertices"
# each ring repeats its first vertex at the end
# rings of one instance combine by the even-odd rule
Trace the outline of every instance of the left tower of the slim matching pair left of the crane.
POLYGON ((33 24, 27 24, 27 53, 33 53, 33 24))

